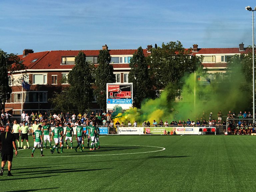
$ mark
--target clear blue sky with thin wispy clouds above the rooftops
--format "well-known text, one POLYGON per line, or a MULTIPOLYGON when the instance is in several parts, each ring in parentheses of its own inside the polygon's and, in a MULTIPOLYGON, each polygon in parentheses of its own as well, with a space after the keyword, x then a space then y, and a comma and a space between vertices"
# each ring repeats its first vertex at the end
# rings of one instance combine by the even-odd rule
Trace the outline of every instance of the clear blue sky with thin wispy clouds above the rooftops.
MULTIPOLYGON (((0 48, 47 50, 146 48, 170 41, 184 47, 252 44, 253 0, 1 0, 0 48)), ((256 19, 256 12, 255 12, 256 19)))

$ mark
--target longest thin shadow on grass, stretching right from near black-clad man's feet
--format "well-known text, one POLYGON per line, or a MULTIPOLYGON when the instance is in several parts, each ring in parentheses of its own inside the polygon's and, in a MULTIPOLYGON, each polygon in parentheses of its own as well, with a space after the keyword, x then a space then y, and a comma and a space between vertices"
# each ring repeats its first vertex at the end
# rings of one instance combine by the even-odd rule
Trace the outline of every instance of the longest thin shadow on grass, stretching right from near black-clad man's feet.
POLYGON ((103 169, 112 169, 112 168, 102 168, 102 169, 53 169, 53 170, 37 170, 37 171, 23 171, 18 172, 17 174, 29 173, 29 175, 38 175, 38 174, 56 174, 56 173, 66 173, 70 172, 86 172, 86 171, 100 171, 103 169))

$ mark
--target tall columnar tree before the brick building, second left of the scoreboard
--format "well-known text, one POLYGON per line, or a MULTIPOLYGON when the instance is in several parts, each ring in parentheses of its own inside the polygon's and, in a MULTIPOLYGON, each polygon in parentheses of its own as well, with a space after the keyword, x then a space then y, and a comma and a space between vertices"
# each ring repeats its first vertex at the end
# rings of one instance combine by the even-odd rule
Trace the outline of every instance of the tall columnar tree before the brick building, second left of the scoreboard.
POLYGON ((92 70, 94 66, 86 61, 86 55, 79 51, 75 57, 75 66, 68 74, 70 84, 68 94, 72 98, 73 105, 77 107, 79 113, 90 109, 93 100, 92 70))

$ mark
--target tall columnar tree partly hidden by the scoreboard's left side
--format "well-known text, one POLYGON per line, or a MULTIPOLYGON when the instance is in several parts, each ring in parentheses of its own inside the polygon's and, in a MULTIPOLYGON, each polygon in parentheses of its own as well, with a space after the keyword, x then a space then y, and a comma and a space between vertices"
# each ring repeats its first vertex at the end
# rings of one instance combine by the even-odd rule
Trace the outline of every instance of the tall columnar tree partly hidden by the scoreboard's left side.
POLYGON ((106 84, 115 83, 113 66, 110 65, 111 56, 109 50, 100 50, 98 66, 95 70, 95 86, 94 95, 97 97, 97 102, 101 108, 106 109, 106 84))

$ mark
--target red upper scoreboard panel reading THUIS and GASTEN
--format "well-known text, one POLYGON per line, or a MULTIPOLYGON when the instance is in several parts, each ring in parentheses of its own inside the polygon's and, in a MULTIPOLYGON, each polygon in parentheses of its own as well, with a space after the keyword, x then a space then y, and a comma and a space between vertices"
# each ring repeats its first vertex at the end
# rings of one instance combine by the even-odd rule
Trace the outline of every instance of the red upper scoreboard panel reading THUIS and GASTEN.
POLYGON ((108 85, 108 99, 131 99, 132 98, 132 85, 108 85))

